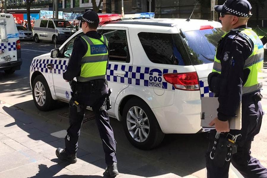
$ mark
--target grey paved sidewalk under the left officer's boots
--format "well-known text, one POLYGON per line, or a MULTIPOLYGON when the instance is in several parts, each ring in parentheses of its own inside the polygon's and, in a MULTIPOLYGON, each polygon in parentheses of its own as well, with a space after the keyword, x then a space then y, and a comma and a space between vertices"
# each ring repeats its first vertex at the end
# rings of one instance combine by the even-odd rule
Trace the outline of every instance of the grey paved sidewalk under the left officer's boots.
MULTIPOLYGON (((64 148, 65 135, 64 128, 49 120, 33 118, 15 107, 0 104, 0 177, 103 177, 106 165, 102 145, 88 135, 80 138, 77 163, 68 165, 57 159, 55 150, 64 148)), ((127 150, 119 152, 117 177, 180 177, 160 162, 151 163, 127 150)))

